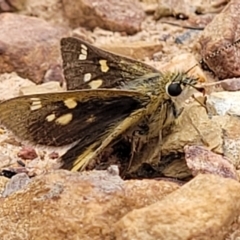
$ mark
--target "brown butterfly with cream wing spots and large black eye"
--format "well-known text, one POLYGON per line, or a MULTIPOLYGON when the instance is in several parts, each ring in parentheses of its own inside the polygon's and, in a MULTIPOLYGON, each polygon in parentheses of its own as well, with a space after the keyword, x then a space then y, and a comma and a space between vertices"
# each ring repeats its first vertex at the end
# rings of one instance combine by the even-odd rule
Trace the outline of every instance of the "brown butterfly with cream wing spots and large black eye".
POLYGON ((1 102, 1 123, 35 144, 70 144, 61 161, 72 171, 106 162, 111 148, 118 156, 128 152, 123 172, 159 161, 162 132, 181 113, 179 96, 187 96, 198 79, 162 73, 72 37, 61 39, 61 55, 68 91, 1 102))

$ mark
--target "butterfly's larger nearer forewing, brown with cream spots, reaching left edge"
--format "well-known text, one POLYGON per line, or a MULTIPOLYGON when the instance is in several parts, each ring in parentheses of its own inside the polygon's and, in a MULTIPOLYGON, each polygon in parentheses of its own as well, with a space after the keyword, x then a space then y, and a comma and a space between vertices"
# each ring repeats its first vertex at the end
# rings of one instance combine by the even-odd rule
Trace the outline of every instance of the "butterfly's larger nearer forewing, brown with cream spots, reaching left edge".
POLYGON ((0 103, 0 121, 23 140, 87 146, 148 101, 138 92, 107 89, 34 94, 0 103))

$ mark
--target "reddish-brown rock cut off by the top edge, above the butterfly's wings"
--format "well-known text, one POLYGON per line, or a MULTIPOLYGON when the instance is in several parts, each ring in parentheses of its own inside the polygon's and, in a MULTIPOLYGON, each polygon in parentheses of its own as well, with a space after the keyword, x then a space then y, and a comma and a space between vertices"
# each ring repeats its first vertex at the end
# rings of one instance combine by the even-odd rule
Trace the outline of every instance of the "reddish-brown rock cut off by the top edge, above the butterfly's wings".
POLYGON ((137 0, 64 0, 63 8, 72 26, 134 34, 140 31, 145 13, 137 0))

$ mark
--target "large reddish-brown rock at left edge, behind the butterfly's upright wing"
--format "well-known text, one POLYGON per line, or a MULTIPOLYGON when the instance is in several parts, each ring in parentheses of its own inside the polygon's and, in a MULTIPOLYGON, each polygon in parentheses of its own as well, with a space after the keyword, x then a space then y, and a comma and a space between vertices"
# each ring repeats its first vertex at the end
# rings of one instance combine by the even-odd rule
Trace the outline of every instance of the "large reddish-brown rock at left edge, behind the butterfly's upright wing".
POLYGON ((21 77, 42 82, 48 68, 61 61, 59 41, 67 31, 11 13, 1 14, 0 24, 0 72, 15 71, 21 77))

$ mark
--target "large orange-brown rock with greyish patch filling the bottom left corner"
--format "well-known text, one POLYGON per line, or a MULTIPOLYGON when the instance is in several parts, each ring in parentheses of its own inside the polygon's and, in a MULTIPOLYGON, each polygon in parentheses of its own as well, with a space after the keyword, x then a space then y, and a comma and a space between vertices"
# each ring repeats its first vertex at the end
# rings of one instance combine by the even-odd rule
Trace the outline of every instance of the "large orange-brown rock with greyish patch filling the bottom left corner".
POLYGON ((5 239, 112 239, 113 223, 179 188, 173 182, 124 182, 114 170, 55 171, 0 201, 5 239), (110 173, 112 172, 112 173, 110 173))

